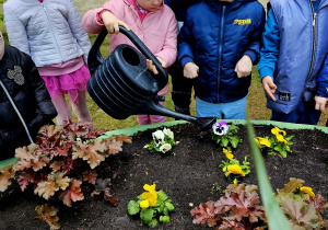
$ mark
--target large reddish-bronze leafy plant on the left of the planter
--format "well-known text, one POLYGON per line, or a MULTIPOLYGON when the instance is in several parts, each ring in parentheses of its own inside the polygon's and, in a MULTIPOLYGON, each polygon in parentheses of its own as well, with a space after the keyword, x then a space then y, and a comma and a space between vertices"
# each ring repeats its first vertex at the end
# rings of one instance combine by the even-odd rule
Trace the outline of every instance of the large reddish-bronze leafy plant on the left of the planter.
MULTIPOLYGON (((33 184, 38 196, 61 200, 71 207, 72 202, 84 199, 83 188, 90 191, 90 186, 95 187, 97 176, 104 170, 101 163, 105 163, 108 156, 121 151, 124 142, 131 142, 131 138, 125 135, 98 138, 103 133, 92 130, 91 124, 85 122, 42 127, 35 143, 15 150, 15 166, 9 165, 0 171, 0 192, 4 192, 16 179, 22 192, 33 184)), ((109 189, 107 183, 106 189, 109 189)), ((107 200, 117 205, 114 197, 107 200)), ((36 210, 39 219, 48 223, 54 220, 51 228, 58 227, 52 207, 37 206, 36 210)))

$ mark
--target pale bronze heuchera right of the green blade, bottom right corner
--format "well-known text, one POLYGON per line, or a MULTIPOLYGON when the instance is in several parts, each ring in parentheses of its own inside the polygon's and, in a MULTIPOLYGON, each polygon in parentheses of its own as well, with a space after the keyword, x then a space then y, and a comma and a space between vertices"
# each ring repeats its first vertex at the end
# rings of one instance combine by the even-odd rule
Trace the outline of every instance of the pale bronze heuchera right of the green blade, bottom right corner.
POLYGON ((328 220, 324 220, 320 215, 328 207, 328 203, 320 194, 314 194, 311 187, 303 184, 303 180, 292 177, 274 194, 291 228, 328 229, 328 220))

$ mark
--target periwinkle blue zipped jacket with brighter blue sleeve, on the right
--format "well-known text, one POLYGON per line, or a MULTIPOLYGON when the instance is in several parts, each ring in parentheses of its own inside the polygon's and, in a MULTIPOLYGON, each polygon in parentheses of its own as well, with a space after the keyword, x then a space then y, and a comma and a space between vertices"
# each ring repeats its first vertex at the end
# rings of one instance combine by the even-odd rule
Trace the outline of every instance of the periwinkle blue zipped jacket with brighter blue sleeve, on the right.
POLYGON ((272 76, 277 84, 267 107, 289 114, 301 100, 316 93, 316 78, 328 53, 328 0, 270 0, 263 47, 258 65, 261 77, 272 76))

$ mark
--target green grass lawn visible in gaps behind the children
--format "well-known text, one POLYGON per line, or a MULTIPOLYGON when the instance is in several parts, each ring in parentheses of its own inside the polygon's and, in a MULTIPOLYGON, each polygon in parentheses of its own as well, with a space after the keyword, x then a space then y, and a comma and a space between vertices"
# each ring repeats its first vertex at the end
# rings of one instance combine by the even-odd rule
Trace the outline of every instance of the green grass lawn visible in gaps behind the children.
MULTIPOLYGON (((7 38, 7 33, 3 25, 0 25, 0 31, 3 34, 3 37, 7 38)), ((90 35, 90 39, 93 43, 95 39, 95 35, 90 35)), ((108 56, 108 49, 109 49, 109 41, 106 38, 101 47, 101 53, 104 57, 108 56)), ((169 80, 171 82, 171 80, 169 80)), ((90 113, 92 115, 94 126, 95 128, 101 128, 103 130, 114 130, 114 129, 120 129, 120 128, 128 128, 138 126, 138 122, 136 116, 130 116, 127 119, 118 120, 114 119, 110 116, 108 116, 106 113, 104 113, 94 102, 93 100, 87 96, 87 105, 90 113)), ((171 100, 171 91, 166 94, 166 101, 165 106, 173 110, 173 103, 171 100)), ((195 115, 195 100, 192 99, 191 102, 191 115, 195 115)), ((251 119, 269 119, 270 118, 270 110, 266 108, 266 97, 265 92, 262 90, 262 85, 260 83, 259 73, 256 69, 256 67, 253 68, 253 81, 251 85, 249 88, 249 95, 247 100, 247 110, 249 113, 249 116, 251 119)), ((323 115, 320 117, 319 124, 320 126, 324 126, 327 120, 327 115, 323 115)), ((75 120, 77 117, 73 114, 73 119, 75 120)), ((173 118, 167 117, 167 120, 173 120, 173 118)))

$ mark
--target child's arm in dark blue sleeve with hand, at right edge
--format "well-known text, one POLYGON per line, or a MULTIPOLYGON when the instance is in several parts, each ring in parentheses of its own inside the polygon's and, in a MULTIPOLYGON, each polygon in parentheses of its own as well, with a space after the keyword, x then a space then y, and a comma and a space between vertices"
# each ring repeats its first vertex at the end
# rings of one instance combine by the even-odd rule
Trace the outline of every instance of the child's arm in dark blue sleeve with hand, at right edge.
POLYGON ((326 114, 326 107, 328 107, 328 55, 326 57, 325 65, 317 78, 318 90, 315 96, 317 111, 326 114))

